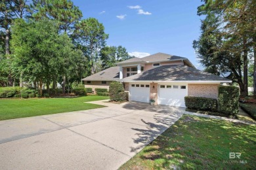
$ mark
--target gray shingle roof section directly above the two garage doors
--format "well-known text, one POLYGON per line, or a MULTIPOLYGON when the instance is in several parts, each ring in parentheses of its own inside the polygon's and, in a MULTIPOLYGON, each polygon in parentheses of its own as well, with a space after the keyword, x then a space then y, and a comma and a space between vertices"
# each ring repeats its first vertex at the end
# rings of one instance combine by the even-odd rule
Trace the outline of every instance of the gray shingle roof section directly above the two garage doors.
POLYGON ((227 78, 206 73, 186 65, 163 65, 137 75, 121 79, 129 81, 229 81, 227 78))

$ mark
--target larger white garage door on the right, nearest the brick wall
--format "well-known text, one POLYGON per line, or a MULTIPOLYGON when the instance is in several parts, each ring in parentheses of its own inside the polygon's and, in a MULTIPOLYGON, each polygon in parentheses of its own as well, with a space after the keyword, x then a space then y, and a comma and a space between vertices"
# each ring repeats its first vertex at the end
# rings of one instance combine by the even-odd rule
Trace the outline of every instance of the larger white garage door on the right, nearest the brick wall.
POLYGON ((184 97, 188 95, 187 85, 159 85, 158 104, 185 107, 184 97))

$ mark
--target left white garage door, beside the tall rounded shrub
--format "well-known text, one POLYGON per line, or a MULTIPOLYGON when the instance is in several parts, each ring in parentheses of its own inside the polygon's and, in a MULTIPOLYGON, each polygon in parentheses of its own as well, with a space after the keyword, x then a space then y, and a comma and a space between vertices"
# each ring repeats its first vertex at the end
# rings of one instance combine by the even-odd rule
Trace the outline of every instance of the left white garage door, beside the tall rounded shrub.
POLYGON ((131 84, 130 100, 149 103, 149 101, 150 101, 150 85, 148 85, 148 84, 131 84))

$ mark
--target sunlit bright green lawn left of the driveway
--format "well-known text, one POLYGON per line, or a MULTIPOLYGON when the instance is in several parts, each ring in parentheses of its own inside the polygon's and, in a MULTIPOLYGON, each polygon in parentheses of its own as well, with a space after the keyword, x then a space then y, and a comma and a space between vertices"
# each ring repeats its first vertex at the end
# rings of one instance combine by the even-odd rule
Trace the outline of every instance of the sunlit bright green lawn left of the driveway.
POLYGON ((103 99, 109 97, 88 95, 76 98, 0 99, 0 120, 96 109, 104 106, 84 102, 103 99))

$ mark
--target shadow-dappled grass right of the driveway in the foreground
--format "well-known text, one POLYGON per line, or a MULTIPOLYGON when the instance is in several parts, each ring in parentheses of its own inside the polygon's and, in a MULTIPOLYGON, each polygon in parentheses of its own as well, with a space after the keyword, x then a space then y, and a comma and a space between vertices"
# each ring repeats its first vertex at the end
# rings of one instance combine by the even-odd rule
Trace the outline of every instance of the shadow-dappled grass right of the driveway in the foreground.
POLYGON ((184 115, 120 169, 255 169, 255 131, 256 126, 184 115), (242 155, 230 159, 229 152, 242 155))

